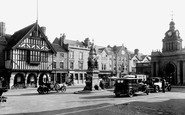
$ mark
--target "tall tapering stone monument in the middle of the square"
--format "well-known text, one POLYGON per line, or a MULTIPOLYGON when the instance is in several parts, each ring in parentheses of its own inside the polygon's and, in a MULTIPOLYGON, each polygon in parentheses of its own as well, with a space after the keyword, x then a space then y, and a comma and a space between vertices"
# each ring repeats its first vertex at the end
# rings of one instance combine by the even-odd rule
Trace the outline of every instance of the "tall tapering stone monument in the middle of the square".
POLYGON ((97 54, 94 48, 94 43, 91 46, 89 57, 88 57, 88 69, 87 69, 87 78, 86 78, 86 86, 84 90, 92 90, 93 88, 96 89, 99 86, 99 70, 98 70, 98 61, 97 61, 97 54))

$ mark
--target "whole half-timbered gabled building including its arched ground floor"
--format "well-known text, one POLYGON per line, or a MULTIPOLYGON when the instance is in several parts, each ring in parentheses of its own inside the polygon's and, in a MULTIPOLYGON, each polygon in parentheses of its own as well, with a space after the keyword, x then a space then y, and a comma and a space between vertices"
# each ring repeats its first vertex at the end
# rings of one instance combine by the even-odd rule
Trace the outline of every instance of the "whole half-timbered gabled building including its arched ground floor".
POLYGON ((54 79, 51 72, 55 50, 44 30, 36 22, 5 37, 3 74, 9 88, 37 87, 54 79))

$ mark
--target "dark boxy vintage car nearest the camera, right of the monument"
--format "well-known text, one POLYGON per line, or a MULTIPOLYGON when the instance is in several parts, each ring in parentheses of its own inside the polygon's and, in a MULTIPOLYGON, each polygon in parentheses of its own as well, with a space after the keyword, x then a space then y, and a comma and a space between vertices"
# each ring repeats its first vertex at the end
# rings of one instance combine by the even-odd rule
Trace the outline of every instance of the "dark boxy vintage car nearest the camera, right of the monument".
POLYGON ((116 79, 114 85, 114 93, 116 97, 119 97, 121 94, 133 97, 134 94, 138 92, 143 92, 148 95, 149 90, 147 85, 140 81, 140 79, 133 77, 124 77, 116 79))

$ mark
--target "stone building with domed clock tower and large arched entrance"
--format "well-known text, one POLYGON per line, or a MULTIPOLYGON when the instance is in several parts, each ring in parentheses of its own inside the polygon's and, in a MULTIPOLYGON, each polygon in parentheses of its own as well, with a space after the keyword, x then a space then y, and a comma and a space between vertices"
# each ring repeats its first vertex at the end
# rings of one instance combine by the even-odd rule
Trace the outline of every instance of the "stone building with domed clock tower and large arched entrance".
POLYGON ((174 85, 184 85, 185 49, 182 48, 182 39, 173 20, 162 42, 162 52, 153 51, 151 55, 152 76, 164 77, 174 85))

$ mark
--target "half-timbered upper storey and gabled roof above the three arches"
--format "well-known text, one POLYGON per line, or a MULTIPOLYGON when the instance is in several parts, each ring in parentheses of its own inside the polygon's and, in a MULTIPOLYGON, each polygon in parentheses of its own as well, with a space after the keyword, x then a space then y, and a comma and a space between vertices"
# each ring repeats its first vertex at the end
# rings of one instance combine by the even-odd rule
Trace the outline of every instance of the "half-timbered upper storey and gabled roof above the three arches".
POLYGON ((12 55, 11 69, 52 70, 55 51, 37 23, 15 32, 11 39, 7 50, 12 55))

